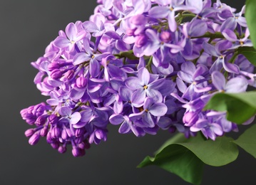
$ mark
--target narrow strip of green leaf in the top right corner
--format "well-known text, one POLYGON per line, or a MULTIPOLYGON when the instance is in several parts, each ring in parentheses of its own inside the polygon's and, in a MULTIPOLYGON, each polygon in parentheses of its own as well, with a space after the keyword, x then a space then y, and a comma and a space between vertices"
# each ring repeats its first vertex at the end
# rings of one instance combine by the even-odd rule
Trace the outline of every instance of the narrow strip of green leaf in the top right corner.
POLYGON ((250 31, 250 39, 252 40, 254 48, 256 48, 256 0, 247 0, 245 5, 245 18, 250 31))

